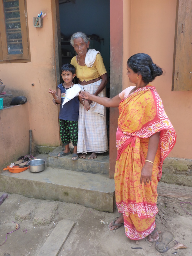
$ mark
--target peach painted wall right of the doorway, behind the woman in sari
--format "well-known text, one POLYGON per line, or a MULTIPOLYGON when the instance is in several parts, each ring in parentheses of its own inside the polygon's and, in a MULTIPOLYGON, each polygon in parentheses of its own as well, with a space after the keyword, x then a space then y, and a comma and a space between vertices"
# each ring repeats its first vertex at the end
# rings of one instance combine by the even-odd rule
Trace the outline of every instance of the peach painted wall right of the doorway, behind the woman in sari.
POLYGON ((127 7, 123 16, 131 16, 130 21, 125 18, 123 23, 123 33, 127 33, 123 36, 123 88, 132 85, 126 76, 129 56, 139 52, 149 54, 154 63, 164 70, 164 75, 156 77, 151 84, 163 100, 165 111, 177 133, 177 141, 169 157, 191 159, 192 91, 171 91, 176 0, 132 0, 131 7, 127 0, 124 3, 127 7))

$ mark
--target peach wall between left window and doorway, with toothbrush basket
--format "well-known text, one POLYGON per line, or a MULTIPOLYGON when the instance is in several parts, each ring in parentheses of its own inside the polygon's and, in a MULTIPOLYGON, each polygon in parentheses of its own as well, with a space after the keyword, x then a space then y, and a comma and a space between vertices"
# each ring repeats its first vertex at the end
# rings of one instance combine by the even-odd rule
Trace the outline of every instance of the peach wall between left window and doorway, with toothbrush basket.
POLYGON ((1 63, 0 78, 6 84, 5 91, 27 97, 29 113, 23 120, 29 118, 33 140, 38 145, 57 146, 60 144, 58 108, 48 93, 49 88, 56 89, 51 12, 51 0, 27 0, 31 62, 1 63), (34 28, 33 17, 41 10, 47 13, 43 27, 34 28))

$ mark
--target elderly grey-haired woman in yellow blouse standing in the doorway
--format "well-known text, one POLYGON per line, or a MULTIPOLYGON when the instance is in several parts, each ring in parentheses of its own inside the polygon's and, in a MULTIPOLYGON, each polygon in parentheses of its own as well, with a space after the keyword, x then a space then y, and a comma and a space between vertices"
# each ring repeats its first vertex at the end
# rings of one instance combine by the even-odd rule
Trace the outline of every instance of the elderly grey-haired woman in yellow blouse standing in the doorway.
MULTIPOLYGON (((100 52, 88 50, 89 39, 82 32, 74 33, 70 43, 77 52, 71 64, 76 69, 82 90, 104 97, 108 76, 100 52)), ((80 158, 85 158, 87 152, 91 152, 88 159, 94 159, 97 153, 104 153, 107 150, 106 108, 83 98, 79 106, 77 153, 80 154, 80 158)))

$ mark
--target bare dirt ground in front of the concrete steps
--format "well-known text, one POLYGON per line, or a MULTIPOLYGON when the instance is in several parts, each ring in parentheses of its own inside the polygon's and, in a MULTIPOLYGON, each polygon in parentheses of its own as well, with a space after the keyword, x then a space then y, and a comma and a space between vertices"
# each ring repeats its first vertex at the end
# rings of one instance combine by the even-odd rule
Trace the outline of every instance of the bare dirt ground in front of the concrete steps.
MULTIPOLYGON (((160 187, 158 185, 159 213, 156 215, 156 226, 161 232, 159 241, 163 232, 169 231, 173 234, 173 241, 169 244, 170 249, 165 253, 159 253, 155 249, 155 243, 148 242, 146 238, 139 241, 128 239, 124 227, 109 231, 107 225, 119 215, 117 209, 114 213, 106 213, 78 204, 8 194, 0 205, 0 256, 36 256, 54 227, 62 219, 73 220, 75 226, 61 248, 59 256, 191 256, 192 208, 190 204, 181 204, 187 213, 179 203, 192 202, 189 196, 192 195, 191 192, 191 187, 165 183, 161 183, 160 187), (185 197, 185 194, 188 196, 185 197), (9 232, 12 233, 7 234, 9 232), (173 248, 175 241, 183 243, 187 248, 175 250, 173 248)), ((0 196, 3 193, 6 191, 0 192, 0 196)))

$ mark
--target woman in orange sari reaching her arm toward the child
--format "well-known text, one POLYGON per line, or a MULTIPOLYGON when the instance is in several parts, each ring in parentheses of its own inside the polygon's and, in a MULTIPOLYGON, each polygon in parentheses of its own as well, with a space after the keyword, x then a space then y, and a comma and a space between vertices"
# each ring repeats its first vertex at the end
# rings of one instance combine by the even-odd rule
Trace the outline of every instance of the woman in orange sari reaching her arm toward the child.
POLYGON ((155 225, 157 183, 163 160, 176 142, 175 130, 161 98, 149 84, 162 73, 148 54, 134 54, 128 59, 127 75, 135 86, 112 99, 88 92, 80 94, 106 107, 119 107, 114 179, 116 205, 121 215, 108 229, 124 225, 126 236, 132 240, 147 236, 150 242, 159 239, 155 225))

